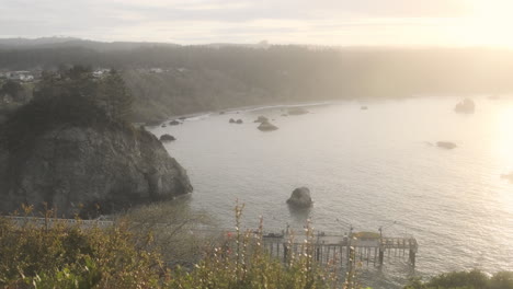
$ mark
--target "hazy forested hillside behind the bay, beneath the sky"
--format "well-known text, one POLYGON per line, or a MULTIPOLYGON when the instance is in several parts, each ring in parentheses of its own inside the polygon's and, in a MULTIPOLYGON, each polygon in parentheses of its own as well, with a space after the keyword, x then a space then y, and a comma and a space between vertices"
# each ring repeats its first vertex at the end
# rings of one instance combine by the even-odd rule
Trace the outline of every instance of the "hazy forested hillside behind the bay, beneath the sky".
POLYGON ((75 45, 3 48, 0 69, 118 69, 135 120, 253 104, 513 92, 513 51, 503 49, 75 45))

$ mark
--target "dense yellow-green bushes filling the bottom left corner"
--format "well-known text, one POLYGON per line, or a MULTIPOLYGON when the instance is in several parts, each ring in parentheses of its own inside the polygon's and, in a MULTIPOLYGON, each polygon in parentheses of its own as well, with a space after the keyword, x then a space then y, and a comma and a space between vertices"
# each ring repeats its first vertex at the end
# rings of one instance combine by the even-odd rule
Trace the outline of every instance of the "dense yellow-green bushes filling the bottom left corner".
POLYGON ((0 287, 155 287, 164 269, 150 241, 135 239, 123 222, 82 229, 0 218, 0 287))

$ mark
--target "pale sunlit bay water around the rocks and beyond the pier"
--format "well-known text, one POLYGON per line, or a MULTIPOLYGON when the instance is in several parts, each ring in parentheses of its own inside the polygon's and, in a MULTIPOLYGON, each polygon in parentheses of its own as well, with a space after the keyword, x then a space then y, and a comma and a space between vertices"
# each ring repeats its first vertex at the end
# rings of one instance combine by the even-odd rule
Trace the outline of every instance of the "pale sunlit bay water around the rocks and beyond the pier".
POLYGON ((187 201, 221 227, 233 227, 238 200, 246 204, 247 227, 258 226, 259 216, 271 231, 287 223, 301 228, 310 218, 326 232, 383 227, 384 235, 413 235, 414 269, 391 259, 381 270, 360 271, 375 288, 400 288, 411 276, 513 270, 513 183, 501 178, 513 172, 513 97, 476 96, 471 115, 454 113, 460 100, 340 102, 309 106, 309 114, 298 116, 264 107, 150 131, 176 137, 164 146, 191 177, 187 201), (259 115, 280 129, 258 130, 259 115), (446 150, 436 141, 458 147, 446 150), (310 188, 315 201, 308 216, 285 203, 300 186, 310 188))

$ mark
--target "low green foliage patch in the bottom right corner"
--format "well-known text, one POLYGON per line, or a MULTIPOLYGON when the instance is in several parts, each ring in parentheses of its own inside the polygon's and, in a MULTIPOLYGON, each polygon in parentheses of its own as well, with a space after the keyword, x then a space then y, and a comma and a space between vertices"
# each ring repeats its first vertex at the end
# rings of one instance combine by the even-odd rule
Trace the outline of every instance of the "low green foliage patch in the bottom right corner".
POLYGON ((513 289, 513 271, 500 271, 491 277, 480 270, 453 271, 426 282, 412 280, 404 289, 513 289))

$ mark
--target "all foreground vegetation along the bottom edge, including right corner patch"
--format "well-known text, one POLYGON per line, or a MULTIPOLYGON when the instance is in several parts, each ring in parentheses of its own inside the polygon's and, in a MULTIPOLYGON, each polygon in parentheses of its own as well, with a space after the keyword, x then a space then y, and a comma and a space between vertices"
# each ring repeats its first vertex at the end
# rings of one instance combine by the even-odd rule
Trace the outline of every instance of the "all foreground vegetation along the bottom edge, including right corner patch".
MULTIPOLYGON (((285 259, 265 247, 263 220, 241 230, 243 205, 235 208, 236 227, 223 235, 206 233, 204 212, 186 206, 151 205, 118 216, 112 226, 77 219, 43 222, 0 218, 0 287, 13 288, 179 288, 179 289, 361 289, 357 264, 345 275, 340 261, 321 266, 315 258, 311 224, 285 259), (202 233, 195 233, 202 232, 202 233)), ((33 216, 23 207, 23 217, 33 216)), ((354 251, 350 253, 354 259, 354 251)), ((351 263, 354 264, 354 263, 351 263)), ((404 289, 513 289, 513 273, 449 273, 404 289)))

